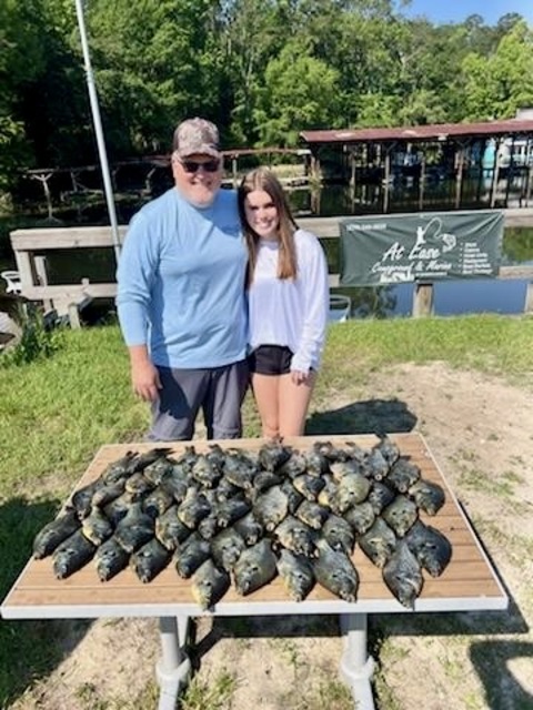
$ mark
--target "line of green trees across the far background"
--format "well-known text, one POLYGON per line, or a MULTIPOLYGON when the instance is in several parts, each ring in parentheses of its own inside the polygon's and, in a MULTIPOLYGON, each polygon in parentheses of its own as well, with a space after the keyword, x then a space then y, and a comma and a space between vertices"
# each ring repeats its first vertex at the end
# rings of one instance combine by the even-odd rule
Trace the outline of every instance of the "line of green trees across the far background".
MULTIPOLYGON (((533 31, 409 19, 409 0, 86 0, 111 161, 167 153, 203 115, 224 148, 302 130, 513 118, 533 106, 533 31)), ((74 0, 0 0, 0 190, 97 162, 74 0)))

